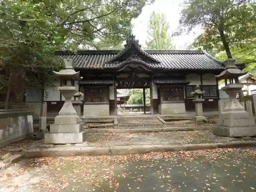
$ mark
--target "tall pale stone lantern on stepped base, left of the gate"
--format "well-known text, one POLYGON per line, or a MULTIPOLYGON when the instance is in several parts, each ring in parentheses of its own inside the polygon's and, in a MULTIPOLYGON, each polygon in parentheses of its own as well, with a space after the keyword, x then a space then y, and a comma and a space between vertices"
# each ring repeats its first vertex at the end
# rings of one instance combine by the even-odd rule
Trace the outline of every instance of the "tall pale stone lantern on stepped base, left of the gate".
POLYGON ((55 72, 57 79, 62 81, 63 86, 58 90, 65 97, 58 116, 54 119, 54 124, 50 125, 50 133, 45 134, 45 143, 65 144, 82 143, 84 141, 83 124, 72 104, 72 98, 77 90, 72 86, 72 81, 78 80, 79 72, 75 72, 72 67, 72 59, 64 59, 65 69, 55 72))

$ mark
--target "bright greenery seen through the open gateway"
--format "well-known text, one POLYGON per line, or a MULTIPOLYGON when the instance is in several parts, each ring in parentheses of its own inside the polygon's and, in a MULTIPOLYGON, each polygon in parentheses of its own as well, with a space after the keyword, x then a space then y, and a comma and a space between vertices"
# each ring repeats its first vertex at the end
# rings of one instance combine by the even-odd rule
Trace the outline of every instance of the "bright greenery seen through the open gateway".
MULTIPOLYGON (((127 104, 143 104, 143 89, 132 89, 127 104)), ((150 89, 145 90, 146 106, 150 106, 150 89)))

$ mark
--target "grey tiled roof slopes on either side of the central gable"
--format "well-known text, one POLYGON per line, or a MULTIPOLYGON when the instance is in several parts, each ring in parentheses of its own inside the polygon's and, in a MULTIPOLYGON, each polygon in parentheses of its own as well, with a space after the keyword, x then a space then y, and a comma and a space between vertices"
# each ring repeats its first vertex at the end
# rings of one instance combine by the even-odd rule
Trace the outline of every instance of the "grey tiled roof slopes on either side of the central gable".
MULTIPOLYGON (((120 51, 77 51, 76 54, 56 52, 57 59, 73 59, 77 69, 115 69, 121 67, 121 62, 106 63, 120 51)), ((145 50, 160 63, 147 63, 151 69, 169 70, 221 70, 223 62, 218 61, 204 51, 198 50, 145 50)))

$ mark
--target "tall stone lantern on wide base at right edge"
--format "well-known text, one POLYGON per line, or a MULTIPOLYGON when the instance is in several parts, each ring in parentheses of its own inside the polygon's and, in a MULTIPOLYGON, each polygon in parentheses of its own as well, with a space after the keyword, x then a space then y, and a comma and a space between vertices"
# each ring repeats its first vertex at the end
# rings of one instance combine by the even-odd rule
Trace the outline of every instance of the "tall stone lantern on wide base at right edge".
POLYGON ((244 110, 237 99, 237 95, 243 87, 239 83, 238 77, 245 73, 234 65, 234 61, 234 59, 227 59, 224 62, 225 70, 216 76, 219 79, 225 79, 225 87, 222 90, 228 94, 229 98, 219 115, 217 126, 212 127, 212 133, 229 137, 255 136, 254 119, 244 110))

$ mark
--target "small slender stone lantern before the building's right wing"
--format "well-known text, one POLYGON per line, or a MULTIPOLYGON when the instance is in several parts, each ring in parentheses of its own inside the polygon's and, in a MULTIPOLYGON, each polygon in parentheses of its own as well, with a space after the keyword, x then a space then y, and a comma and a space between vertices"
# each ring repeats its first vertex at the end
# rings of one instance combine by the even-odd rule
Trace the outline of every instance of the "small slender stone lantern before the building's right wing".
POLYGON ((193 101, 196 108, 196 122, 207 122, 206 117, 203 115, 203 94, 205 94, 205 91, 201 91, 199 85, 196 86, 196 91, 191 92, 191 95, 195 96, 193 101))

